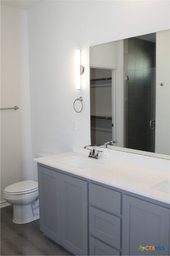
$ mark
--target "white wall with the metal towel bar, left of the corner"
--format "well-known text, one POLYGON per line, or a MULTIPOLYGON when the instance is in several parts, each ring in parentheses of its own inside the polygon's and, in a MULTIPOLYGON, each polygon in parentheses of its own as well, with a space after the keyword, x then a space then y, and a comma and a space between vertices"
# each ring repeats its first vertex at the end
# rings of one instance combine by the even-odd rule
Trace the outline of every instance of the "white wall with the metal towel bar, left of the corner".
POLYGON ((1 5, 1 203, 6 186, 31 179, 27 12, 1 5))

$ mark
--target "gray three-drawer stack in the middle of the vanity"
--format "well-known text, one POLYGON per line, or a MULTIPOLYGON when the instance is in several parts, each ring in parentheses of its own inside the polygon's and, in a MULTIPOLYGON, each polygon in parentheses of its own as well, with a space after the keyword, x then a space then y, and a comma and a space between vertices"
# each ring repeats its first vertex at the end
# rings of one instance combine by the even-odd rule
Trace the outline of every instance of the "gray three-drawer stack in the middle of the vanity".
POLYGON ((89 254, 121 254, 121 192, 89 183, 89 254))

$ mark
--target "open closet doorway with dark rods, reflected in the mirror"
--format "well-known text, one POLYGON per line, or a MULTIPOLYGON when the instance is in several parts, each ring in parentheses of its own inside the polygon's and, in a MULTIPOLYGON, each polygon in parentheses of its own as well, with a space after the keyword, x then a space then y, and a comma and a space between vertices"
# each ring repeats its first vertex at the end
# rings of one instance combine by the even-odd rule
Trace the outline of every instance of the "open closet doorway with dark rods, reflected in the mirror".
POLYGON ((113 70, 90 68, 91 144, 113 140, 113 70))

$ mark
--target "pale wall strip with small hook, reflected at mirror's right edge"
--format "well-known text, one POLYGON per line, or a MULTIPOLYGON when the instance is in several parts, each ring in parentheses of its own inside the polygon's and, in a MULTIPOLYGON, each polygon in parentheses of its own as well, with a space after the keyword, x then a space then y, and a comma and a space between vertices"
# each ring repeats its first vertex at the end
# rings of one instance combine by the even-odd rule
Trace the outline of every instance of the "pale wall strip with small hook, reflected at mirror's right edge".
POLYGON ((170 30, 156 33, 155 152, 170 155, 170 30), (161 86, 160 83, 164 85, 161 86))

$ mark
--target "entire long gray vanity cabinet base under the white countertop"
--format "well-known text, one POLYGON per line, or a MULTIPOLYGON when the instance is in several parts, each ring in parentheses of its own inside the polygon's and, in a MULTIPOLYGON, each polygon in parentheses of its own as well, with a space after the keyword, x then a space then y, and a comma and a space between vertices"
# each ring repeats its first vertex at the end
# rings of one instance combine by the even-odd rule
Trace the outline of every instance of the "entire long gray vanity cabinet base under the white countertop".
POLYGON ((169 255, 168 204, 68 174, 38 164, 46 236, 75 255, 169 255))

